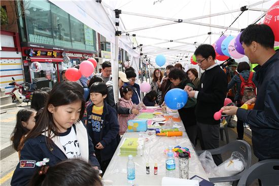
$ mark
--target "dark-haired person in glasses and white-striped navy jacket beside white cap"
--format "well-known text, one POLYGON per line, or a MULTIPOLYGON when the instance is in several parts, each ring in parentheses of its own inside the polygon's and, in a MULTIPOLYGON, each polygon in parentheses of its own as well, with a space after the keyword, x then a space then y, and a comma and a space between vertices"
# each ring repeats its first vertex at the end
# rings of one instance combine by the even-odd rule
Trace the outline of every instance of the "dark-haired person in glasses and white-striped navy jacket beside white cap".
POLYGON ((132 95, 132 102, 133 104, 138 105, 141 102, 141 90, 140 90, 140 85, 138 85, 137 83, 135 83, 136 81, 136 74, 134 71, 125 71, 127 79, 129 80, 129 82, 124 83, 123 86, 129 86, 132 88, 133 90, 133 95, 132 95))

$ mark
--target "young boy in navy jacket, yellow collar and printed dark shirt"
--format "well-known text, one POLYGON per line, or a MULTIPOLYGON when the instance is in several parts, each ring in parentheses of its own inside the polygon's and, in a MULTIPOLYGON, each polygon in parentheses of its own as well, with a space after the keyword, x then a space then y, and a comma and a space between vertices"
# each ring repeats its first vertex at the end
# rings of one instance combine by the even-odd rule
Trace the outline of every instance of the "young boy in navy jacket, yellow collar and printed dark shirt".
POLYGON ((90 87, 92 103, 87 106, 87 131, 95 147, 101 170, 106 171, 119 142, 119 123, 114 108, 104 102, 107 85, 95 82, 90 87))

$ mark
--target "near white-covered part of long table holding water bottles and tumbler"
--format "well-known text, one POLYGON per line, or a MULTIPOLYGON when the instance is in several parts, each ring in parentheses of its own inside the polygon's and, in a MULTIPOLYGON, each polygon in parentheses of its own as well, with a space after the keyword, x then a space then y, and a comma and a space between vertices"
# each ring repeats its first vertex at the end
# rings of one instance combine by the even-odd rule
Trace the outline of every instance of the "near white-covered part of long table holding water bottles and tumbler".
MULTIPOLYGON (((182 126, 180 131, 183 131, 183 136, 180 137, 165 137, 148 135, 147 132, 126 132, 117 147, 116 152, 108 166, 106 172, 104 173, 103 180, 111 180, 112 184, 105 185, 131 185, 127 181, 127 157, 119 156, 120 145, 122 144, 124 138, 146 138, 143 156, 133 157, 135 163, 135 185, 161 185, 162 177, 165 174, 165 160, 167 158, 164 150, 168 148, 169 145, 187 147, 190 150, 191 158, 189 161, 189 178, 194 175, 198 175, 206 180, 208 177, 201 166, 198 156, 185 132, 182 122, 176 122, 178 125, 182 126), (146 163, 149 162, 150 174, 146 174, 146 163), (154 175, 154 164, 158 164, 158 174, 154 175)), ((176 177, 179 178, 179 164, 178 158, 176 160, 176 177)))

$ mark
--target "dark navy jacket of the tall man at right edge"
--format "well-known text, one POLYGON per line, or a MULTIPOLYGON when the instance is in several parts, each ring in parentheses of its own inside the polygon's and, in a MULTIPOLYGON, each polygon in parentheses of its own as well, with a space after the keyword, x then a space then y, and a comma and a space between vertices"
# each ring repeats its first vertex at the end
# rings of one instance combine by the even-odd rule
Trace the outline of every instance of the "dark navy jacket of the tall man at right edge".
POLYGON ((279 51, 254 70, 258 82, 254 110, 238 108, 236 115, 250 124, 256 157, 279 159, 279 51))

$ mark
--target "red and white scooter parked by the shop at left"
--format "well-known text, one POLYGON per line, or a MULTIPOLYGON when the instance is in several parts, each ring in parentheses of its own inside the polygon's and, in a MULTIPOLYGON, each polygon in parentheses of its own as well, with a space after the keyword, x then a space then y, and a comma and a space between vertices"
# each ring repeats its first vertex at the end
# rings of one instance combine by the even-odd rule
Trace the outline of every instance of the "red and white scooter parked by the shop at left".
POLYGON ((15 86, 10 94, 12 96, 13 102, 26 102, 28 104, 28 102, 30 102, 30 96, 33 93, 33 90, 29 89, 29 83, 18 84, 13 77, 12 79, 13 81, 9 83, 9 85, 15 86), (22 84, 27 84, 27 86, 23 86, 22 84))

